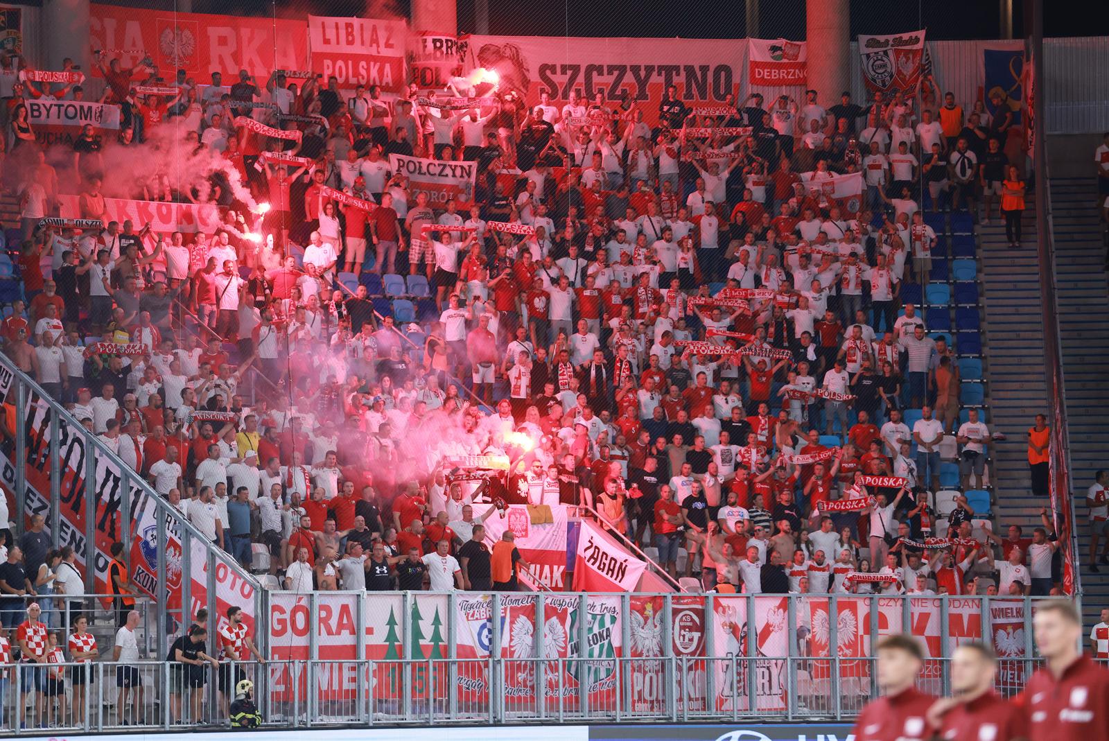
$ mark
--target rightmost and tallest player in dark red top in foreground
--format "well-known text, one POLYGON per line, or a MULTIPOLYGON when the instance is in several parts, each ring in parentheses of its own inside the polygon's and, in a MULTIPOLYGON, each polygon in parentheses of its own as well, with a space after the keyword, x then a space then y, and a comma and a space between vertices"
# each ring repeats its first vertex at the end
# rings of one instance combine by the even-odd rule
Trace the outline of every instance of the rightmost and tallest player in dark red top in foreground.
POLYGON ((1014 698, 1028 718, 1026 737, 1031 741, 1107 741, 1109 671, 1080 652, 1082 622, 1075 602, 1038 602, 1032 629, 1047 666, 1014 698))

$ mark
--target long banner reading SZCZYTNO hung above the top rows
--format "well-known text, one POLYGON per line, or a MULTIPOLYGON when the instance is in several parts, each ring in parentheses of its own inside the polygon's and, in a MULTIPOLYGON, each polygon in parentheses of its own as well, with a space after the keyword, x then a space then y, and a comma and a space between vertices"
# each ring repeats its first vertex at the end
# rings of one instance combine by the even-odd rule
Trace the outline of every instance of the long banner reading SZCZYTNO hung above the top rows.
MULTIPOLYGON (((467 70, 485 68, 500 75, 499 92, 516 92, 529 103, 548 93, 561 105, 577 91, 606 108, 627 94, 658 120, 659 102, 671 84, 690 108, 719 105, 740 92, 747 44, 724 39, 592 39, 571 37, 551 43, 546 37, 471 35, 467 70)), ((742 98, 742 95, 741 95, 742 98)))

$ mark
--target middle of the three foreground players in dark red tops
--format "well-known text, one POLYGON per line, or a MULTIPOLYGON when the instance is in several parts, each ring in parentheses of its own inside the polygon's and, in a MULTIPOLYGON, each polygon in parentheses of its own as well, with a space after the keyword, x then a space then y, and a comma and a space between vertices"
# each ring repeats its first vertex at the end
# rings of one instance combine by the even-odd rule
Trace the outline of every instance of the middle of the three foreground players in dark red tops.
POLYGON ((937 700, 928 720, 945 741, 1026 739, 1020 708, 994 691, 997 654, 984 643, 963 643, 952 656, 952 698, 937 700))

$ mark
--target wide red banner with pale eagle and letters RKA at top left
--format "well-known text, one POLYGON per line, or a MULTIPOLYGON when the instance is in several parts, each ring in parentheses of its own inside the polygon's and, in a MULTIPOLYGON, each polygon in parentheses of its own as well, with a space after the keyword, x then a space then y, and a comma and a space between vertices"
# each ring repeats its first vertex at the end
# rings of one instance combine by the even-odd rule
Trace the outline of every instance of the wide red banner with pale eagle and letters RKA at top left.
POLYGON ((308 63, 304 20, 93 3, 89 28, 93 49, 109 50, 110 55, 125 52, 120 59, 123 69, 135 67, 149 53, 166 79, 180 68, 200 82, 210 81, 212 72, 222 72, 230 84, 240 70, 246 70, 264 85, 272 70, 305 69, 308 63))

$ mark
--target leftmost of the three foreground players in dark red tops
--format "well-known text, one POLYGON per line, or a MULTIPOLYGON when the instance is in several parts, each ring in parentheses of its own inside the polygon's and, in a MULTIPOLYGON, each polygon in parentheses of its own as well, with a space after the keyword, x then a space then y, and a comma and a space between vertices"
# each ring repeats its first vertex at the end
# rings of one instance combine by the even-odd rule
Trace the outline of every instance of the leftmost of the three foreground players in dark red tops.
POLYGON ((923 741, 935 728, 928 709, 936 698, 916 689, 924 651, 912 636, 886 636, 878 642, 878 688, 885 697, 863 708, 852 733, 855 741, 923 741))

